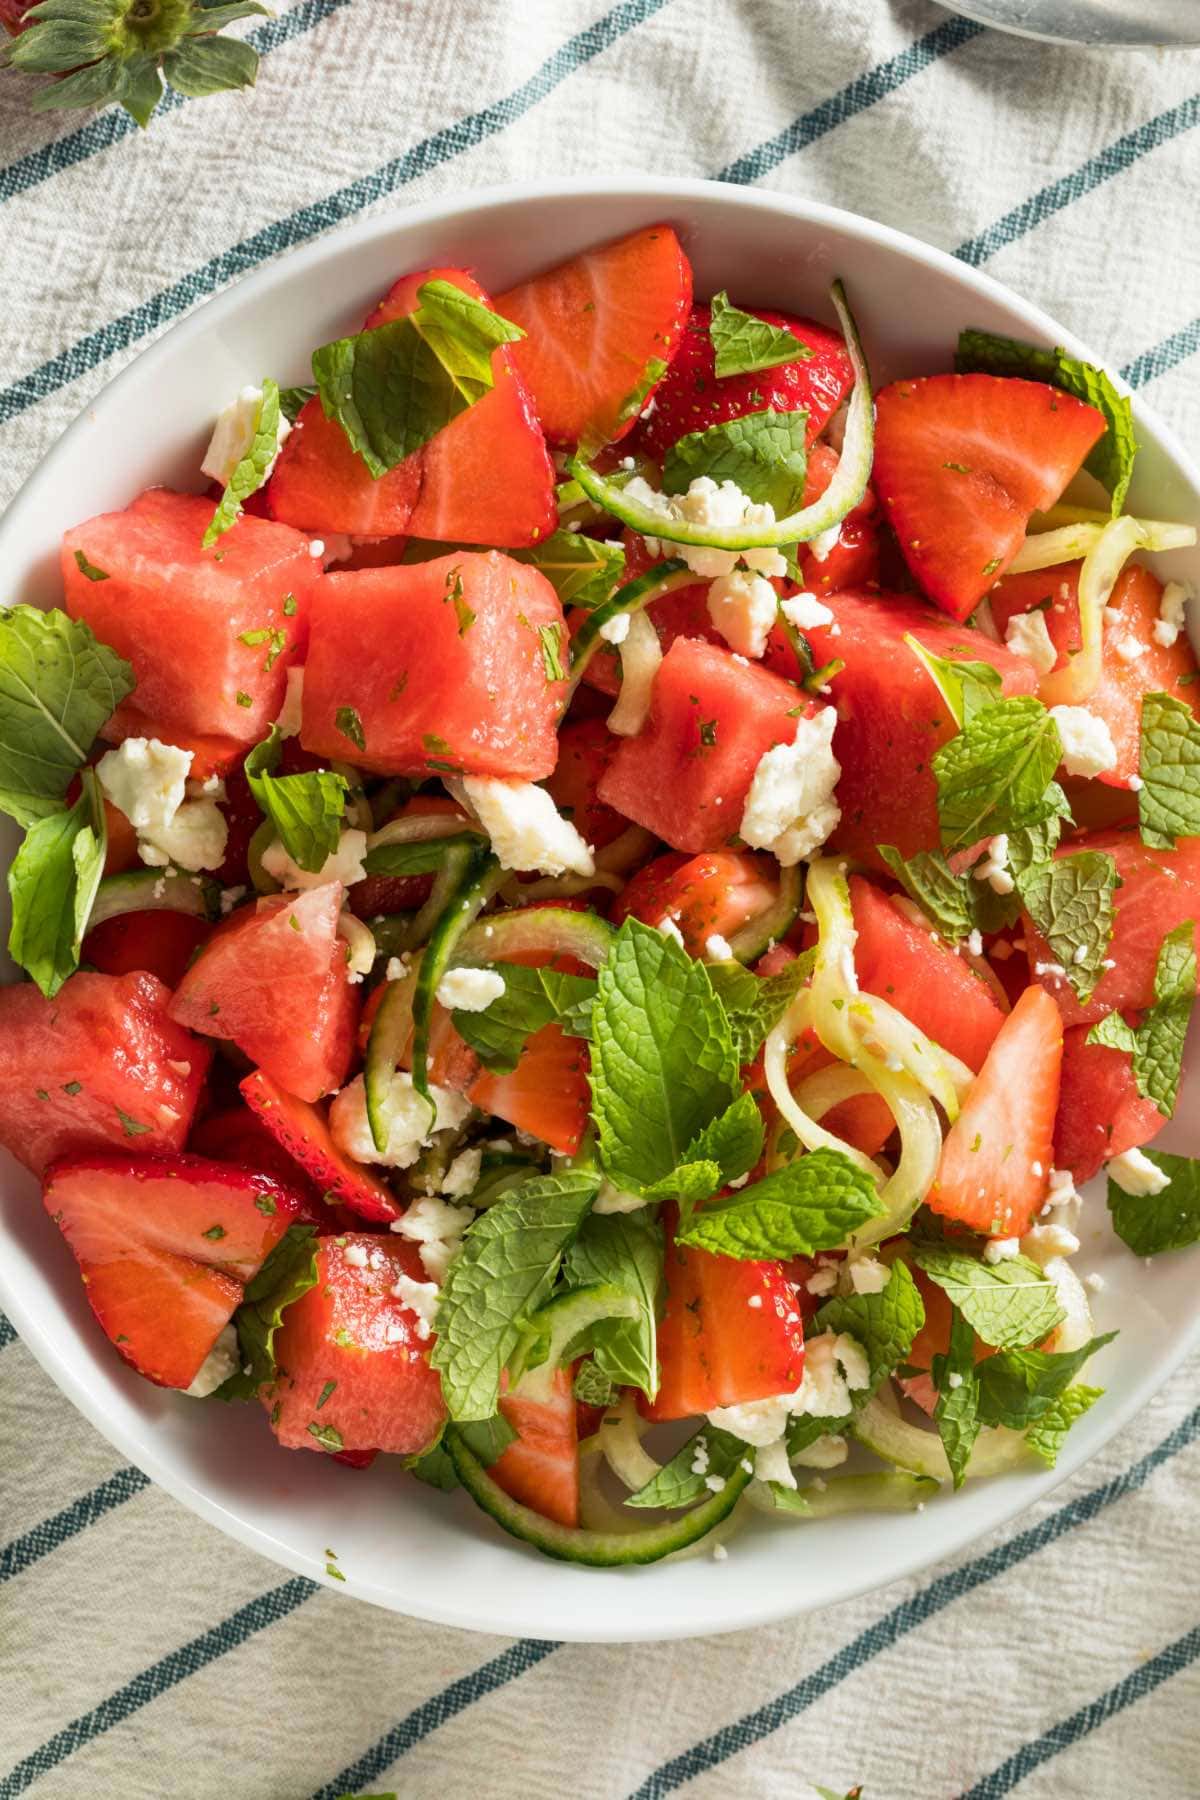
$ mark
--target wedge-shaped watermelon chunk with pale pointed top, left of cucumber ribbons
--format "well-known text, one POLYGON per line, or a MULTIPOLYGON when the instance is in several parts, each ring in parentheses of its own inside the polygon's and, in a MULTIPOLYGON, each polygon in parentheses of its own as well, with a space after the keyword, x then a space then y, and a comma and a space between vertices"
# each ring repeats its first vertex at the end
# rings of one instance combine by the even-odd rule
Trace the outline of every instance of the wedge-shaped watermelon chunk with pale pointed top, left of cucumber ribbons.
POLYGON ((180 981, 171 1017, 230 1039, 300 1100, 340 1087, 358 1021, 338 938, 342 896, 340 882, 326 882, 241 907, 180 981))

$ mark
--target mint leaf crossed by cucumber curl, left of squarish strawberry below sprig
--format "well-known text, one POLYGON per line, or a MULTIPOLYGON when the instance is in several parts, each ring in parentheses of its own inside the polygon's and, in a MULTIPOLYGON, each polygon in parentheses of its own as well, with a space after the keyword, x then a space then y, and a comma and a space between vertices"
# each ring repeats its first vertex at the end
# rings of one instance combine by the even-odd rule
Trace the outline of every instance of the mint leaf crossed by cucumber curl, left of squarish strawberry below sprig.
MULTIPOLYGON (((619 1388, 640 1388, 653 1400, 658 1391, 658 1305, 662 1294, 662 1220, 653 1208, 637 1213, 588 1213, 567 1249, 563 1274, 570 1283, 601 1282, 633 1294, 637 1319, 601 1319, 592 1325, 587 1348, 594 1368, 619 1388)), ((585 1364, 587 1368, 588 1364, 585 1364)), ((596 1402, 596 1404, 608 1404, 596 1402)))

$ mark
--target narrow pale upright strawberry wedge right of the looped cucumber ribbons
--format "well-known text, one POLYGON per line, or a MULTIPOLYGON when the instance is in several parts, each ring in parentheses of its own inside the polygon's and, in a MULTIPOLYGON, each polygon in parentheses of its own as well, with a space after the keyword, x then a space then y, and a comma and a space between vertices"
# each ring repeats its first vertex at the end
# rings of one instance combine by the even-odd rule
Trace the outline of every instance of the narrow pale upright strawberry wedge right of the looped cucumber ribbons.
POLYGON ((950 1127, 928 1206, 993 1237, 1024 1237, 1045 1202, 1063 1022, 1054 1001, 1025 988, 950 1127))

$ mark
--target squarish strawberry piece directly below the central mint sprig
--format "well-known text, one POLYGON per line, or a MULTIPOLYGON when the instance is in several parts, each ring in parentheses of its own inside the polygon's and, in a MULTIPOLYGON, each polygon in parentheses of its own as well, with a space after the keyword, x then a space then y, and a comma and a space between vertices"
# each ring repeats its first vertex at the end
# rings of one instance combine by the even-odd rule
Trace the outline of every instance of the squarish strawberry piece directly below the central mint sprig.
POLYGON ((793 1393, 804 1375, 804 1325, 779 1262, 738 1262, 675 1242, 666 1215, 667 1301, 658 1327, 662 1379, 648 1418, 691 1418, 716 1406, 793 1393))

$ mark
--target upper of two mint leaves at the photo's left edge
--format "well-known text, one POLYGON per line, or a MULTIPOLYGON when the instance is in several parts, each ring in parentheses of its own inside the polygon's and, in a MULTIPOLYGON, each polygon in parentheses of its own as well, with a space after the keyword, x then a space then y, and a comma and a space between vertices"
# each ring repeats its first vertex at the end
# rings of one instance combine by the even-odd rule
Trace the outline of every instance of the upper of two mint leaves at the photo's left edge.
POLYGON ((58 812, 92 740, 133 691, 133 670, 86 625, 36 607, 0 610, 0 810, 58 812))

